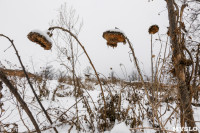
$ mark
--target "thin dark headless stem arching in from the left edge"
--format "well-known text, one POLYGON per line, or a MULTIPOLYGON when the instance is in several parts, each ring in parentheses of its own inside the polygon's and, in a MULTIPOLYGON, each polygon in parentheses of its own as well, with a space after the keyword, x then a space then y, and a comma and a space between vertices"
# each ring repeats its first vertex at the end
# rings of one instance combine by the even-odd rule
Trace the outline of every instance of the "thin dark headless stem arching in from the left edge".
MULTIPOLYGON (((5 38, 7 38, 7 39, 10 41, 10 43, 12 44, 12 46, 13 46, 15 52, 16 52, 17 58, 18 58, 18 60, 19 60, 19 62, 20 62, 20 65, 21 65, 21 67, 22 67, 22 69, 23 69, 23 71, 24 71, 24 74, 25 74, 26 78, 27 78, 27 81, 28 81, 28 83, 29 83, 29 85, 30 85, 30 87, 31 87, 31 90, 32 90, 32 92, 33 92, 35 98, 37 99, 37 102, 39 103, 40 107, 42 108, 42 111, 43 111, 44 114, 46 115, 46 117, 47 117, 47 119, 49 120, 49 122, 50 122, 51 124, 53 124, 51 118, 49 117, 48 113, 46 112, 45 108, 43 107, 42 103, 40 102, 40 100, 39 100, 39 98, 38 98, 38 96, 37 96, 37 94, 36 94, 36 92, 35 92, 35 90, 34 90, 34 88, 33 88, 33 85, 32 85, 32 83, 31 83, 31 81, 30 81, 30 79, 29 79, 29 77, 28 77, 28 74, 27 74, 27 72, 26 72, 26 70, 25 70, 25 67, 24 67, 22 61, 21 61, 21 58, 20 58, 20 56, 19 56, 19 54, 18 54, 18 51, 17 51, 17 49, 16 49, 16 47, 15 47, 15 45, 14 45, 14 43, 13 43, 13 40, 11 40, 9 37, 7 37, 7 36, 5 36, 5 35, 3 35, 3 34, 0 34, 0 36, 3 36, 3 37, 5 37, 5 38)), ((54 131, 55 131, 56 133, 58 133, 58 131, 57 131, 56 128, 54 128, 54 131)))

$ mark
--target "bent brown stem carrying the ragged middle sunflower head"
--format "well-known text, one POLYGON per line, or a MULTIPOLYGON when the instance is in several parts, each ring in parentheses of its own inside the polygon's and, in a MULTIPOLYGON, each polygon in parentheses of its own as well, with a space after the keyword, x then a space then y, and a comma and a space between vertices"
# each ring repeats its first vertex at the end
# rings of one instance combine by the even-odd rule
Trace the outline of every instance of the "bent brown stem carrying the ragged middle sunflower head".
MULTIPOLYGON (((146 93, 146 95, 147 95, 147 99, 148 99, 148 101, 150 102, 151 107, 153 107, 153 103, 152 103, 152 101, 150 100, 150 97, 149 97, 147 88, 146 88, 145 83, 144 83, 143 76, 142 76, 142 74, 141 74, 139 65, 138 65, 138 63, 137 63, 137 58, 136 58, 136 56, 135 56, 134 49, 133 49, 133 47, 132 47, 132 45, 131 45, 131 42, 129 41, 129 39, 128 39, 127 37, 126 37, 126 40, 127 40, 128 44, 129 44, 129 48, 130 48, 131 51, 132 51, 133 59, 134 59, 134 62, 135 62, 135 65, 136 65, 138 74, 139 74, 139 76, 140 76, 140 79, 141 79, 141 81, 142 81, 142 85, 144 86, 144 90, 145 90, 145 93, 146 93)), ((159 124, 161 125, 162 129, 164 129, 164 126, 163 126, 162 122, 159 120, 159 118, 158 118, 158 116, 157 116, 155 110, 153 110, 153 111, 154 111, 153 113, 154 113, 155 117, 157 118, 159 124)))

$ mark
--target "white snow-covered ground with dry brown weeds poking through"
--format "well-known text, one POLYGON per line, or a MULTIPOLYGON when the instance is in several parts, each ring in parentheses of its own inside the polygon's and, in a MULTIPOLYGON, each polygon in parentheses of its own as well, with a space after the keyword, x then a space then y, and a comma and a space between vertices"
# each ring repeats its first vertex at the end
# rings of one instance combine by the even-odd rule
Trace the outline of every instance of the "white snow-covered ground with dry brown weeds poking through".
MULTIPOLYGON (((15 79, 15 82, 17 82, 15 86, 28 104, 42 133, 54 133, 51 127, 56 127, 59 133, 74 133, 78 131, 77 124, 80 132, 103 132, 99 128, 103 125, 101 110, 104 108, 104 103, 98 84, 91 81, 83 82, 81 85, 83 93, 75 98, 74 87, 68 83, 59 83, 57 80, 32 81, 37 94, 43 94, 40 100, 54 122, 53 125, 50 125, 26 80, 15 79), (39 92, 39 88, 43 90, 43 93, 39 92)), ((155 133, 161 128, 156 119, 157 127, 153 128, 152 126, 152 107, 143 88, 126 86, 122 83, 108 83, 103 88, 108 108, 107 113, 110 113, 107 114, 107 124, 110 127, 107 127, 105 133, 155 133), (112 116, 113 112, 114 116, 112 116)), ((4 129, 10 132, 14 132, 16 129, 16 132, 24 133, 34 131, 30 119, 5 85, 1 92, 3 106, 0 110, 0 131, 3 132, 4 129)), ((159 121, 165 130, 168 130, 167 132, 174 131, 175 127, 180 126, 176 102, 164 99, 165 92, 158 94, 158 100, 162 101, 157 107, 159 121)), ((193 109, 195 120, 200 121, 200 107, 193 107, 193 109)), ((199 130, 200 123, 196 124, 199 130)))

